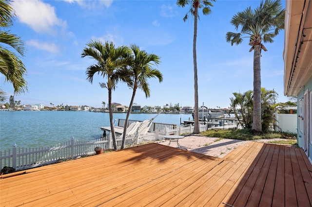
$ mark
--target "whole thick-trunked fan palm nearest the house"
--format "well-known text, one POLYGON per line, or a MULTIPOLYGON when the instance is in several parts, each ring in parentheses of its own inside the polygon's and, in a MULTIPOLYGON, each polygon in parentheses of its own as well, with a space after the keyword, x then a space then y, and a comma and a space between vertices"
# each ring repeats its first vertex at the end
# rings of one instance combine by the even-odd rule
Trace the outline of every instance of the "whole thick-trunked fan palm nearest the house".
POLYGON ((263 42, 273 42, 273 37, 284 29, 285 9, 282 8, 280 0, 261 0, 260 6, 255 10, 248 7, 243 12, 238 12, 232 17, 231 24, 239 33, 228 32, 226 41, 231 45, 239 45, 243 38, 249 38, 249 45, 254 50, 254 113, 252 129, 256 132, 262 131, 261 126, 261 50, 267 51, 263 42), (246 36, 243 36, 246 35, 246 36))

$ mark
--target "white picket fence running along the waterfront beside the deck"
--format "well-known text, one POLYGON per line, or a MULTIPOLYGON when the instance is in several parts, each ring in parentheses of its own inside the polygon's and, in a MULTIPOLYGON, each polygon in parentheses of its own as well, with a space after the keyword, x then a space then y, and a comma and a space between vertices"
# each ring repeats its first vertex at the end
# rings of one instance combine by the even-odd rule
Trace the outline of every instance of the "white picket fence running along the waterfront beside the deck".
MULTIPOLYGON (((194 126, 166 127, 153 133, 137 137, 126 137, 126 147, 136 144, 153 142, 163 139, 164 135, 181 135, 191 133, 194 126)), ((200 125, 200 131, 207 130, 207 125, 200 125)), ((121 146, 122 137, 116 136, 117 147, 121 146)), ((113 148, 111 136, 91 141, 81 141, 72 138, 69 141, 54 147, 20 148, 14 144, 12 149, 0 151, 0 169, 4 166, 13 167, 16 171, 35 168, 42 165, 52 164, 66 159, 75 159, 78 156, 95 154, 95 147, 105 149, 113 148)))

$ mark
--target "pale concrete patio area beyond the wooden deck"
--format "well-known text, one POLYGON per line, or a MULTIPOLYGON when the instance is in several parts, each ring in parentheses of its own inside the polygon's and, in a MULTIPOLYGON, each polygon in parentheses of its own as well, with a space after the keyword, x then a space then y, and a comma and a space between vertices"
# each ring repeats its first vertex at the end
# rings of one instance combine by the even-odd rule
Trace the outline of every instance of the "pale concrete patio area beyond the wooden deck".
MULTIPOLYGON (((258 139, 253 141, 269 142, 276 139, 258 139)), ((278 139, 281 140, 281 139, 278 139)), ((286 140, 286 139, 285 139, 286 140)), ((236 147, 251 143, 252 141, 238 140, 238 139, 227 139, 227 138, 212 138, 203 136, 187 136, 183 139, 179 139, 181 149, 200 153, 204 155, 210 155, 214 157, 222 158, 236 147)), ((168 145, 169 140, 163 140, 158 142, 159 144, 168 145)), ((171 147, 177 147, 176 142, 171 142, 171 147)))

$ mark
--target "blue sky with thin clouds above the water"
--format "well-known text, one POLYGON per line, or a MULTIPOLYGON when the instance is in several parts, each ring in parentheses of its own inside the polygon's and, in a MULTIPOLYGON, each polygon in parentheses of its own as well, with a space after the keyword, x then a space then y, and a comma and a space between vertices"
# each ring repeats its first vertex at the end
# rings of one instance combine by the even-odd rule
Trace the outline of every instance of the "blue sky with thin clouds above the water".
MULTIPOLYGON (((259 5, 260 0, 218 0, 212 14, 201 13, 197 32, 198 101, 210 108, 228 107, 233 92, 253 89, 253 52, 246 39, 239 46, 225 40, 235 32, 231 18, 239 11, 259 5)), ((285 1, 283 1, 285 5, 285 1)), ((176 0, 16 0, 17 18, 11 28, 25 42, 22 58, 27 69, 28 92, 15 96, 21 104, 55 106, 108 103, 107 89, 93 84, 85 71, 93 59, 81 58, 91 39, 113 41, 115 46, 137 44, 141 50, 161 57, 157 67, 163 82, 150 79, 151 97, 137 91, 135 103, 144 105, 180 104, 194 106, 193 28, 194 19, 183 17, 189 7, 176 0)), ((266 43, 261 57, 261 86, 274 89, 278 102, 283 94, 284 31, 266 43)), ((13 86, 0 76, 2 90, 13 95, 13 86)), ((112 102, 129 105, 132 90, 119 83, 112 102)))

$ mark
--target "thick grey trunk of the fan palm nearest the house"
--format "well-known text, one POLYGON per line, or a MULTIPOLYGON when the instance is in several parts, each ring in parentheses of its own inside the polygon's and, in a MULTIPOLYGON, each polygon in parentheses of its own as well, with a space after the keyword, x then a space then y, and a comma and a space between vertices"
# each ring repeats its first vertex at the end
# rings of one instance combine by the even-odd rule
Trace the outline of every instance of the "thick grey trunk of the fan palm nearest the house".
POLYGON ((261 125, 261 66, 260 45, 254 46, 254 113, 253 127, 256 132, 262 132, 261 125))

